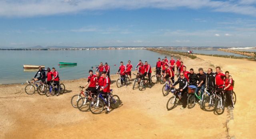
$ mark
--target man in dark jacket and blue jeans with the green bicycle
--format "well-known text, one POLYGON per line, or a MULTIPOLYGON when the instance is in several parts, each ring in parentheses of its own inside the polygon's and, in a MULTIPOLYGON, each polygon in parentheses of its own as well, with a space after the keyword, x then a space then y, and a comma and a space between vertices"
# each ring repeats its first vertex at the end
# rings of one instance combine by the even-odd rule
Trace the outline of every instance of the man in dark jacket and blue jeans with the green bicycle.
MULTIPOLYGON (((198 95, 199 90, 201 90, 201 94, 200 94, 201 97, 200 98, 202 98, 204 88, 205 88, 206 73, 204 73, 203 68, 199 68, 198 71, 199 71, 199 73, 196 74, 196 75, 198 75, 199 80, 198 80, 198 85, 196 87, 195 92, 198 95)), ((199 100, 198 103, 201 103, 201 100, 199 100)))

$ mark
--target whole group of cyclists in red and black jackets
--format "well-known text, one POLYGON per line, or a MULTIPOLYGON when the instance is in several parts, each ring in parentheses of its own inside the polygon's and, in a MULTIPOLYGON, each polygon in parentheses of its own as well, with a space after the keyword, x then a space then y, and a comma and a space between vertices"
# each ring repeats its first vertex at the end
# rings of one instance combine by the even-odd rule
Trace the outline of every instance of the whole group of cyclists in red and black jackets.
MULTIPOLYGON (((123 62, 120 62, 120 66, 118 68, 117 74, 120 74, 120 76, 130 76, 131 79, 131 71, 132 71, 132 64, 131 61, 128 61, 128 64, 124 66, 123 62)), ((139 60, 136 68, 138 70, 137 77, 142 79, 142 77, 148 76, 148 82, 149 87, 151 88, 151 66, 148 64, 147 61, 144 63, 139 60)), ((102 93, 104 98, 107 100, 106 104, 106 113, 109 113, 109 107, 110 107, 110 66, 108 66, 108 63, 101 62, 100 65, 97 68, 96 74, 93 73, 92 70, 89 70, 89 76, 87 83, 84 87, 88 85, 87 91, 91 92, 91 97, 97 97, 99 93, 102 93)), ((226 71, 225 74, 222 73, 220 67, 216 67, 216 72, 213 72, 212 68, 208 68, 207 73, 204 72, 202 68, 198 69, 198 73, 194 73, 194 69, 191 68, 189 71, 186 70, 186 66, 183 64, 182 61, 177 58, 177 60, 174 60, 173 56, 171 56, 171 59, 168 60, 167 57, 164 59, 158 58, 158 61, 156 62, 156 75, 159 77, 162 77, 164 81, 170 81, 172 82, 172 87, 179 84, 179 90, 182 93, 182 107, 180 109, 186 108, 187 105, 187 91, 189 86, 194 86, 195 93, 197 95, 199 90, 201 92, 204 92, 204 88, 207 86, 209 88, 218 87, 220 90, 225 90, 226 92, 226 101, 228 103, 229 109, 234 109, 234 104, 232 101, 232 93, 233 93, 233 80, 232 77, 229 75, 229 72, 226 71), (175 67, 176 67, 176 75, 178 79, 175 81, 175 67)), ((42 67, 39 67, 39 70, 37 71, 36 75, 31 81, 27 81, 28 84, 33 83, 34 81, 45 81, 48 85, 53 81, 58 86, 60 77, 58 75, 58 71, 56 71, 55 68, 47 68, 47 70, 43 69, 42 67), (47 71, 47 73, 46 73, 47 71), (39 75, 39 77, 37 77, 39 75), (46 80, 47 79, 47 80, 46 80)), ((126 80, 121 80, 121 84, 126 85, 126 80)), ((201 98, 202 98, 202 94, 201 98)), ((58 94, 57 94, 58 95, 58 94)), ((200 103, 201 100, 199 100, 198 103, 200 103)))

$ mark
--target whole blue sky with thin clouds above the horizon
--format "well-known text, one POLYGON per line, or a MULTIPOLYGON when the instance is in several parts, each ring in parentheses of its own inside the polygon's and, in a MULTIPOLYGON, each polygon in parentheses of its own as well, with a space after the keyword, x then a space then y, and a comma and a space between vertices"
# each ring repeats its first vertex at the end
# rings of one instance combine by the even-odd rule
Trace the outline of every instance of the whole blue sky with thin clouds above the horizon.
POLYGON ((0 5, 0 47, 256 46, 256 0, 4 0, 0 5))

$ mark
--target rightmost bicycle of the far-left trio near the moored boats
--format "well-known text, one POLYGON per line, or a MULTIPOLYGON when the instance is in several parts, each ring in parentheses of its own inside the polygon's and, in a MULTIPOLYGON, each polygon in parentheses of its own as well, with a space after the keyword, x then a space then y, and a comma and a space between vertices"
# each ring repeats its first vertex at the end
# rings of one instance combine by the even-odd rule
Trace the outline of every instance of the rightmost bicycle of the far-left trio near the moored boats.
POLYGON ((65 85, 63 83, 59 84, 59 86, 57 87, 56 83, 54 83, 53 81, 51 81, 50 86, 47 87, 45 90, 45 95, 47 97, 53 96, 55 93, 59 93, 62 94, 65 91, 65 85), (59 89, 58 89, 59 88, 59 89))

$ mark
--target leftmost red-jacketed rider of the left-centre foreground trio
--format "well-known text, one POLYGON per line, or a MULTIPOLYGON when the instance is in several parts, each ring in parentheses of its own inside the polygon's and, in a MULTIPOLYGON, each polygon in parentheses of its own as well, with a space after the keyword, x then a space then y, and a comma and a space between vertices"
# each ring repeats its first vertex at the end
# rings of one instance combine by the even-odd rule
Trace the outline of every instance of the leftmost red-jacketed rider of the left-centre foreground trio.
POLYGON ((86 91, 90 91, 92 94, 92 97, 94 97, 97 93, 97 89, 96 89, 97 75, 93 74, 92 70, 89 70, 89 74, 90 75, 88 76, 87 83, 86 83, 86 85, 84 85, 84 87, 86 87, 90 83, 88 88, 86 89, 86 91))

